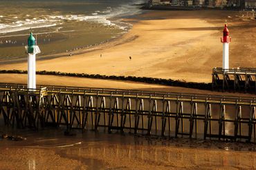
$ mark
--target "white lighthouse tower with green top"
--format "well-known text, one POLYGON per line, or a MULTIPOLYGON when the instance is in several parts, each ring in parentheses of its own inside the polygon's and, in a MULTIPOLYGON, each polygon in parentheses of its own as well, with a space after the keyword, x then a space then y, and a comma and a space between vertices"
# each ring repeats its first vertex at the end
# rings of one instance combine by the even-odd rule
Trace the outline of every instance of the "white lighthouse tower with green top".
POLYGON ((26 45, 26 53, 28 53, 28 89, 36 89, 35 79, 35 55, 40 53, 40 49, 37 46, 37 41, 30 32, 28 37, 28 45, 26 45))

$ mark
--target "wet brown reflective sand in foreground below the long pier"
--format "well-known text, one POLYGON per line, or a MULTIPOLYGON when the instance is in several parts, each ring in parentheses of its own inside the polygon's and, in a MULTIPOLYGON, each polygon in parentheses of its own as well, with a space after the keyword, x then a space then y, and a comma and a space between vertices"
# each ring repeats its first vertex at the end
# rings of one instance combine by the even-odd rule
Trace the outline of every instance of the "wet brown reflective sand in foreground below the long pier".
MULTIPOLYGON (((61 129, 0 139, 1 169, 255 169, 255 145, 61 129), (248 151, 250 150, 250 151, 248 151)), ((22 134, 22 132, 21 132, 22 134)))

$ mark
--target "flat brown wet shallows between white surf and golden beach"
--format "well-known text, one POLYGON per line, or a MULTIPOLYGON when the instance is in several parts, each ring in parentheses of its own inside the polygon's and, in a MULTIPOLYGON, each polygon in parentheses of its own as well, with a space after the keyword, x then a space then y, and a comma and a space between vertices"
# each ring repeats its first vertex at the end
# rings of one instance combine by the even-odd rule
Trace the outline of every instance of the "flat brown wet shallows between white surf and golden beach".
MULTIPOLYGON (((42 53, 37 54, 37 59, 48 59, 49 57, 69 56, 69 54, 106 43, 121 36, 126 30, 100 23, 67 21, 59 29, 38 28, 33 32, 37 33, 34 36, 37 37, 37 43, 40 44, 40 50, 42 50, 42 53), (73 28, 74 25, 76 28, 73 28)), ((24 45, 27 43, 28 30, 21 31, 18 35, 9 34, 0 35, 0 64, 26 62, 24 45), (6 41, 12 43, 5 43, 6 41)))

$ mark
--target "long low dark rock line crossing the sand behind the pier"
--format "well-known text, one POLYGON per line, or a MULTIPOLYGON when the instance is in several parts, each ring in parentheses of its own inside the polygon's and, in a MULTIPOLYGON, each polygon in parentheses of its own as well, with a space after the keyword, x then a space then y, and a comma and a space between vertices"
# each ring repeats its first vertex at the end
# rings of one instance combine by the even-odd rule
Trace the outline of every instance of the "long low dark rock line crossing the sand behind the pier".
MULTIPOLYGON (((0 70, 0 74, 27 74, 26 70, 0 70)), ((51 75, 51 76, 70 76, 80 78, 98 78, 105 80, 116 80, 116 81, 134 81, 140 83, 150 83, 158 85, 168 85, 176 87, 187 87, 193 89, 212 89, 211 83, 195 83, 186 82, 184 80, 172 80, 164 78, 151 78, 151 77, 137 77, 137 76, 107 76, 100 74, 84 74, 84 73, 68 73, 68 72, 53 72, 53 71, 37 71, 39 75, 51 75)))

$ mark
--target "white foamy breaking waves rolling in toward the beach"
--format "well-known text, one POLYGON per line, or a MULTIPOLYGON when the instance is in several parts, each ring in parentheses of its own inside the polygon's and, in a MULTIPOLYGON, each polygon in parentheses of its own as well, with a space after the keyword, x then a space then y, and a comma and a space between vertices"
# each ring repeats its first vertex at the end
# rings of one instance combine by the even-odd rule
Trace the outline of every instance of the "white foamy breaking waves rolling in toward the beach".
MULTIPOLYGON (((143 2, 139 1, 139 3, 143 2)), ((137 2, 138 3, 138 2, 137 2)), ((103 25, 116 26, 122 30, 127 30, 131 27, 129 24, 125 24, 120 21, 115 21, 115 17, 125 17, 134 14, 139 14, 140 9, 133 6, 134 3, 123 4, 116 8, 107 7, 104 10, 96 10, 91 15, 84 14, 71 14, 71 15, 45 15, 40 19, 36 17, 30 17, 30 14, 26 14, 24 20, 12 21, 12 23, 0 22, 0 33, 18 32, 21 30, 28 30, 30 28, 47 28, 55 25, 62 25, 65 21, 89 21, 97 22, 103 25)), ((3 18, 3 16, 0 16, 3 18)), ((12 20, 19 19, 19 17, 12 17, 12 20)))

